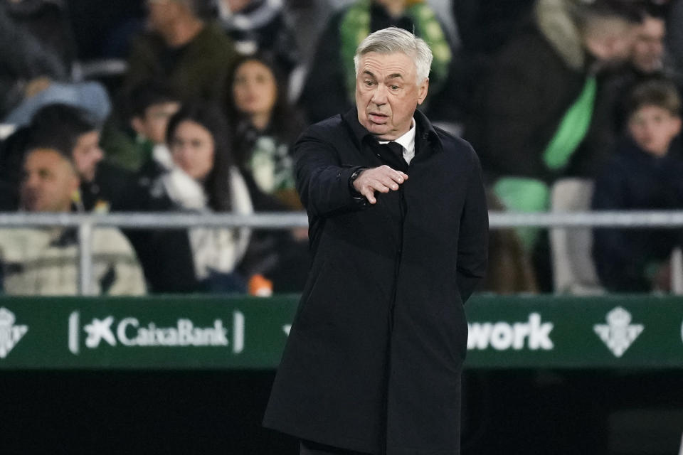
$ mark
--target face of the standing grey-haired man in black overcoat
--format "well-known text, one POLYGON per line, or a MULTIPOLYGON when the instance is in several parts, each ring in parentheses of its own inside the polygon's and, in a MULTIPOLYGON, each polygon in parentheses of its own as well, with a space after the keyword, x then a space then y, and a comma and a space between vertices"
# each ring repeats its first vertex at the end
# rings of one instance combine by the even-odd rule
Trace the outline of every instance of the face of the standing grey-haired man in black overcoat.
POLYGON ((413 113, 427 96, 415 63, 403 53, 366 53, 356 74, 358 121, 377 139, 391 141, 411 129, 413 113))

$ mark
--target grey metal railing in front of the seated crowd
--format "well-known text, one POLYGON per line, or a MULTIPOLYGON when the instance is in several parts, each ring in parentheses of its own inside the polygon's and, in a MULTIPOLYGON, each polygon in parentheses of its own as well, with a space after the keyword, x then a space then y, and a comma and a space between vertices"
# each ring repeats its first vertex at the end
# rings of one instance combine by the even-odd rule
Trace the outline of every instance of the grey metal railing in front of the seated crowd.
MULTIPOLYGON (((0 228, 61 226, 78 228, 79 290, 92 295, 92 232, 98 227, 178 229, 199 227, 260 228, 282 230, 308 225, 305 212, 254 213, 251 215, 196 213, 0 213, 0 228)), ((489 212, 492 229, 502 228, 683 228, 683 210, 591 211, 566 213, 489 212)), ((680 250, 674 253, 681 255, 680 250)), ((675 259, 675 257, 674 257, 675 259)), ((679 258, 679 262, 683 262, 679 258)), ((681 276, 674 291, 683 291, 683 272, 674 260, 674 273, 681 276)))

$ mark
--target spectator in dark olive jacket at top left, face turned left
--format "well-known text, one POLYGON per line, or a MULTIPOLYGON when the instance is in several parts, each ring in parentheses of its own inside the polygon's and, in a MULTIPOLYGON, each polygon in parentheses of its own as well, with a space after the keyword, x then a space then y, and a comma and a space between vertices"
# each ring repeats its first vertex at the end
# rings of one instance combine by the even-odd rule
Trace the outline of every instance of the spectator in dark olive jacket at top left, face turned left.
POLYGON ((226 99, 226 80, 237 57, 220 27, 204 23, 194 0, 147 0, 150 30, 137 36, 123 89, 166 82, 183 102, 226 99))

